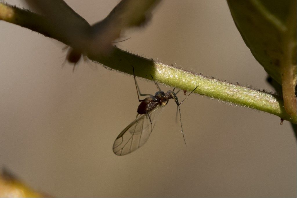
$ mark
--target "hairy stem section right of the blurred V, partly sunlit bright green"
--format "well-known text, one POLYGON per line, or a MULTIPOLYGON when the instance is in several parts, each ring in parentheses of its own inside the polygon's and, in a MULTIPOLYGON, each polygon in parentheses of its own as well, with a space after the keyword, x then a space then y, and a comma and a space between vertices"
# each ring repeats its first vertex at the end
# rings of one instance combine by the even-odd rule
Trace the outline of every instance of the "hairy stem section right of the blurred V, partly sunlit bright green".
POLYGON ((195 93, 236 105, 265 111, 296 123, 296 117, 292 117, 286 113, 283 99, 277 95, 191 73, 130 54, 119 48, 115 48, 109 56, 99 58, 91 57, 91 59, 112 69, 131 75, 133 74, 133 66, 136 76, 151 80, 151 76, 148 75, 151 74, 155 81, 182 90, 192 91, 196 86, 199 86, 194 91, 195 93))

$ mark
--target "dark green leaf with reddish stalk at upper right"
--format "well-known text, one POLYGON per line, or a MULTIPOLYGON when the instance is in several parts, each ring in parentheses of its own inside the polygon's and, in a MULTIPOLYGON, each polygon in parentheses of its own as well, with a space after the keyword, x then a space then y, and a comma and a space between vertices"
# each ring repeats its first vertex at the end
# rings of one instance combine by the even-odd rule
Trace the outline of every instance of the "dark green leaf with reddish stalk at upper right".
POLYGON ((253 56, 282 85, 285 109, 296 115, 296 0, 227 0, 253 56))

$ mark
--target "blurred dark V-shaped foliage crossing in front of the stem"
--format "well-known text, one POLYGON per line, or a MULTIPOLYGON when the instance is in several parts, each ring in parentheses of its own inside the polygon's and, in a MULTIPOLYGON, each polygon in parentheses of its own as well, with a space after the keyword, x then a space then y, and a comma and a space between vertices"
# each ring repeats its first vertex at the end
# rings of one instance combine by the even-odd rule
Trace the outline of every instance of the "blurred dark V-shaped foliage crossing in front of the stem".
POLYGON ((25 0, 33 9, 50 21, 51 29, 59 37, 67 38, 69 48, 67 61, 74 65, 80 54, 105 55, 128 28, 144 26, 151 19, 152 10, 161 0, 122 0, 102 21, 90 26, 63 0, 25 0), (75 56, 72 56, 75 54, 75 56), (75 61, 74 61, 75 59, 75 61))

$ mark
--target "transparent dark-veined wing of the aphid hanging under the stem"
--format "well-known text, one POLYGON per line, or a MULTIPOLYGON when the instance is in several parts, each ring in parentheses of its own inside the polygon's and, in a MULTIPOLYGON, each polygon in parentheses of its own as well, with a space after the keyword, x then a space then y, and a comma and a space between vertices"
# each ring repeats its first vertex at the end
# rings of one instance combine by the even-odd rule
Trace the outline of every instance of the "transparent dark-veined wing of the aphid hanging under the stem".
POLYGON ((147 114, 143 114, 131 122, 114 141, 113 153, 127 155, 146 143, 161 109, 161 106, 157 106, 149 112, 153 124, 147 114))

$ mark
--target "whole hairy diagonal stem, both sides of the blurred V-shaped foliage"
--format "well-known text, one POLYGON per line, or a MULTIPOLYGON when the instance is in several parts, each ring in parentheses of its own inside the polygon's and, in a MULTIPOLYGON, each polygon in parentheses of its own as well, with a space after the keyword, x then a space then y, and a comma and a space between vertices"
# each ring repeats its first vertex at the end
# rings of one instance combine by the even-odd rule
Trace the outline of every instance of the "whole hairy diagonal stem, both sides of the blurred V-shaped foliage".
MULTIPOLYGON (((52 25, 50 25, 45 17, 28 10, 21 10, 0 3, 0 20, 26 27, 44 34, 45 36, 59 40, 67 45, 71 45, 72 43, 63 35, 52 31, 52 25)), ((173 66, 155 62, 151 59, 145 59, 135 54, 130 54, 129 52, 122 51, 116 47, 113 47, 113 50, 109 54, 98 55, 96 52, 91 51, 86 55, 91 60, 114 70, 132 75, 133 66, 135 68, 136 76, 152 80, 151 76, 149 76, 149 74, 151 74, 159 83, 187 91, 192 91, 196 86, 199 86, 195 90, 195 93, 236 105, 265 111, 277 115, 284 120, 296 123, 296 115, 290 116, 286 113, 283 99, 277 95, 256 91, 248 87, 233 85, 224 81, 191 73, 173 66)))

